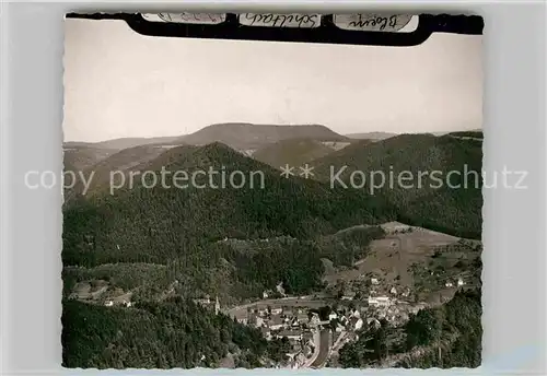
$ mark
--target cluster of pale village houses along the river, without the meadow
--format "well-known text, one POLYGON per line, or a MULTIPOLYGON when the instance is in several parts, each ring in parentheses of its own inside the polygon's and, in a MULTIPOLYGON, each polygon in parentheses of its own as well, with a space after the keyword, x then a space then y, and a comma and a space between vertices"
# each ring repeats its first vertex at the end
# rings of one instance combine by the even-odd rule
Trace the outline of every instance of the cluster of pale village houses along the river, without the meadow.
MULTIPOLYGON (((403 326, 409 315, 433 306, 431 303, 415 303, 409 290, 399 293, 395 286, 386 287, 375 278, 362 285, 368 286, 370 295, 366 298, 359 298, 358 293, 348 289, 341 296, 293 297, 282 294, 282 297, 270 298, 271 292, 264 292, 259 302, 225 310, 218 298, 207 296, 195 302, 260 330, 267 340, 288 341, 291 350, 279 367, 336 367, 339 350, 346 343, 357 341, 368 329, 379 329, 382 325, 403 326)), ((458 278, 453 283, 446 282, 445 287, 455 293, 457 289, 465 289, 465 281, 458 278)), ((282 291, 281 285, 278 290, 282 291)), ((446 299, 449 297, 441 303, 446 299)))

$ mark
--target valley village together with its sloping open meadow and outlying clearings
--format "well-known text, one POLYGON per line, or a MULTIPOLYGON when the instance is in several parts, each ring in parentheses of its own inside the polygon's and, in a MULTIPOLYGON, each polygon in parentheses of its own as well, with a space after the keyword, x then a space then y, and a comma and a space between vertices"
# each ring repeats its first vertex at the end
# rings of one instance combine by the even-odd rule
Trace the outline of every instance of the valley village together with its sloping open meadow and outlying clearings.
MULTIPOLYGON (((369 245, 363 259, 331 269, 325 289, 312 295, 290 296, 279 282, 261 298, 237 306, 223 306, 222 298, 210 295, 194 302, 256 328, 268 341, 283 341, 290 350, 277 367, 337 367, 346 343, 383 326, 403 327, 420 309, 480 284, 480 242, 396 222, 382 227, 385 235, 369 245)), ((175 280, 160 298, 176 295, 177 286, 175 280)), ((69 298, 131 307, 135 296, 98 280, 78 283, 69 298)))

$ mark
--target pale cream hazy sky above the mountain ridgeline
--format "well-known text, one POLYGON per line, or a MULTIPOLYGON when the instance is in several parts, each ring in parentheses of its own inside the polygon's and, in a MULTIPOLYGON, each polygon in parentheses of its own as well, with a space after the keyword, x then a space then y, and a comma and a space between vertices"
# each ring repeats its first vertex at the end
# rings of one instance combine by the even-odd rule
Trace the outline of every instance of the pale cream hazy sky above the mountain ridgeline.
POLYGON ((481 128, 481 36, 414 47, 148 37, 66 21, 65 139, 191 133, 217 122, 339 133, 481 128))

